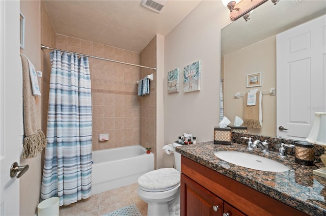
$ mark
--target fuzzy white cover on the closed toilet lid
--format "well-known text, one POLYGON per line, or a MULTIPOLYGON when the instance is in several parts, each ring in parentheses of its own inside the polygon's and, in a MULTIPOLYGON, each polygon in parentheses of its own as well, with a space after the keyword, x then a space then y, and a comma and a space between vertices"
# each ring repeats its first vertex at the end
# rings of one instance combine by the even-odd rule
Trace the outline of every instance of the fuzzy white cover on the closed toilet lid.
POLYGON ((174 168, 161 168, 145 173, 138 178, 144 191, 167 191, 180 183, 180 173, 174 168))

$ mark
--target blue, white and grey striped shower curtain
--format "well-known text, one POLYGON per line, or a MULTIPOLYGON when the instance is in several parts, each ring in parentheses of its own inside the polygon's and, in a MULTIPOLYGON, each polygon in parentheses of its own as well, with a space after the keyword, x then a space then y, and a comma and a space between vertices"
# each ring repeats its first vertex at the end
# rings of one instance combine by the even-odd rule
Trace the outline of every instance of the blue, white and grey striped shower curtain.
POLYGON ((91 196, 92 99, 88 57, 51 52, 41 200, 60 206, 91 196))

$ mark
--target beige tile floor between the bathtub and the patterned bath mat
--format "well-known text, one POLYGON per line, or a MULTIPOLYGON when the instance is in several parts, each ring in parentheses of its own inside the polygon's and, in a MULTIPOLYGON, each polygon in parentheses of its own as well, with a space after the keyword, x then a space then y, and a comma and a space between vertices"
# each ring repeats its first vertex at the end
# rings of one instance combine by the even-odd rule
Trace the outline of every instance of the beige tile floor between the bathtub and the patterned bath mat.
POLYGON ((136 204, 143 216, 147 216, 147 203, 138 197, 138 183, 113 189, 60 207, 60 216, 99 216, 119 208, 136 204))

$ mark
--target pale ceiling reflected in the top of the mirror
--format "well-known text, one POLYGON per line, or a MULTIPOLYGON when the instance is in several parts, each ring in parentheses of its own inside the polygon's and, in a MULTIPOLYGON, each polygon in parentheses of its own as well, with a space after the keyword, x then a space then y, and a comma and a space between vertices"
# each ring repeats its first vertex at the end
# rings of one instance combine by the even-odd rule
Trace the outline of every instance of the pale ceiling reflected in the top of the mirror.
POLYGON ((256 8, 247 22, 239 18, 221 31, 222 56, 326 14, 324 0, 270 1, 256 8))

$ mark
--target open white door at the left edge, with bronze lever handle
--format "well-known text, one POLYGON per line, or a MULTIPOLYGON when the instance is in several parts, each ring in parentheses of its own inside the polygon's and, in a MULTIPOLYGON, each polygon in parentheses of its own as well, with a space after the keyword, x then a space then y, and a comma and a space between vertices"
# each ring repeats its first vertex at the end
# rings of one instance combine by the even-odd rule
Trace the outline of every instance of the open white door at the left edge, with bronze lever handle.
POLYGON ((19 215, 19 179, 10 167, 19 163, 21 88, 19 1, 0 1, 0 215, 19 215))

